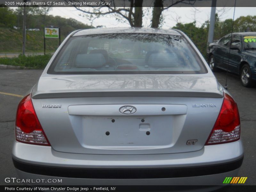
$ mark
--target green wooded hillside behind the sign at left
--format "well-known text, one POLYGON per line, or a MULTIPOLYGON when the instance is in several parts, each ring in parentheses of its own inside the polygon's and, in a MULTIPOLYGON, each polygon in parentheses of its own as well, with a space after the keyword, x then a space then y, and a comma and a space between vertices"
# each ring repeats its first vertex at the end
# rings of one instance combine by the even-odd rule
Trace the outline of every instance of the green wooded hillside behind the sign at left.
MULTIPOLYGON (((0 4, 0 53, 22 52, 22 7, 13 10, 0 4), (20 27, 14 29, 13 26, 20 27)), ((48 15, 51 8, 27 7, 26 27, 39 28, 40 31, 26 31, 26 52, 44 52, 44 27, 60 27, 61 41, 76 29, 94 28, 73 18, 48 15), (45 11, 46 10, 46 11, 45 11)), ((46 39, 46 52, 54 52, 59 39, 46 39)))

